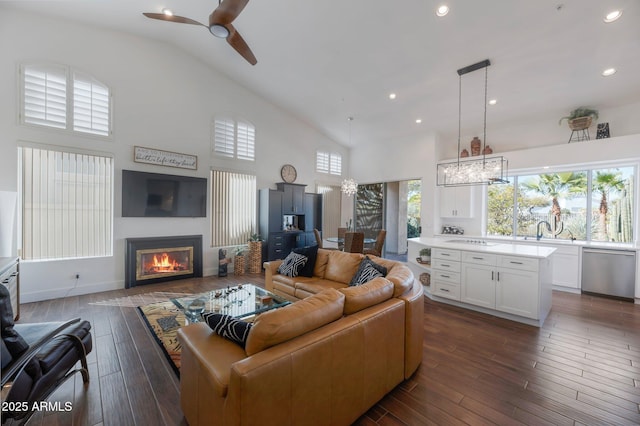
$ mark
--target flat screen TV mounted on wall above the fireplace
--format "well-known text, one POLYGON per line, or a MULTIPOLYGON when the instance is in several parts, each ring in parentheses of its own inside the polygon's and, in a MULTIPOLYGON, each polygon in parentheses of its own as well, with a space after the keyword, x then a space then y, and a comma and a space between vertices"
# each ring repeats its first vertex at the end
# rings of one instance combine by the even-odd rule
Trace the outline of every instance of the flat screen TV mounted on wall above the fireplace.
POLYGON ((206 217, 207 179, 122 171, 122 217, 206 217))

